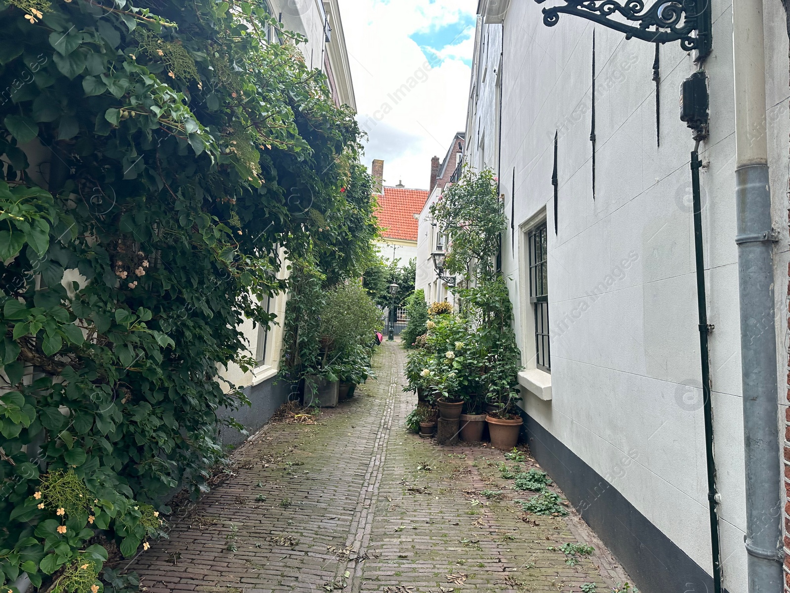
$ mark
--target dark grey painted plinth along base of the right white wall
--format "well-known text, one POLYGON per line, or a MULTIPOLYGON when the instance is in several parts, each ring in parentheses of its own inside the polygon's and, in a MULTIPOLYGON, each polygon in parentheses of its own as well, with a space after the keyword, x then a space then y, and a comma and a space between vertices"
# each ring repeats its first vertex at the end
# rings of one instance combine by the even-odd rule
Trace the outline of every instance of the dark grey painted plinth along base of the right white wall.
POLYGON ((524 427, 536 461, 557 482, 642 593, 713 593, 713 577, 613 485, 532 417, 525 416, 524 427))

